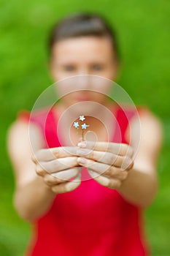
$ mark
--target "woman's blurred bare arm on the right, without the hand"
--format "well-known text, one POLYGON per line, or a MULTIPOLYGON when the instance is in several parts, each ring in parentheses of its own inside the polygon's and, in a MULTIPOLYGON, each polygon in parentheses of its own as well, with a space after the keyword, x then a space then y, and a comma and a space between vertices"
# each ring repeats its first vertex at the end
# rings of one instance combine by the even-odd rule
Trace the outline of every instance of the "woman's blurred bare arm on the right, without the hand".
MULTIPOLYGON (((162 127, 158 118, 147 110, 140 121, 141 140, 134 166, 117 190, 131 203, 146 207, 152 203, 158 190, 157 160, 162 143, 162 127)), ((134 140, 138 136, 135 119, 131 122, 131 134, 134 140)))

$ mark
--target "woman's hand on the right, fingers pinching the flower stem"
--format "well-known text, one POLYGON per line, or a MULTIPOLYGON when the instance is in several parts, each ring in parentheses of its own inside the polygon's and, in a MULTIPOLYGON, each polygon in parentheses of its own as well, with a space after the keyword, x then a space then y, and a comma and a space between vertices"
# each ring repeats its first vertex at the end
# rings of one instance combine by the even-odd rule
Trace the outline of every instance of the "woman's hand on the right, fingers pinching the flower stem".
POLYGON ((78 144, 79 165, 99 184, 118 189, 134 165, 133 149, 128 144, 83 141, 78 144))

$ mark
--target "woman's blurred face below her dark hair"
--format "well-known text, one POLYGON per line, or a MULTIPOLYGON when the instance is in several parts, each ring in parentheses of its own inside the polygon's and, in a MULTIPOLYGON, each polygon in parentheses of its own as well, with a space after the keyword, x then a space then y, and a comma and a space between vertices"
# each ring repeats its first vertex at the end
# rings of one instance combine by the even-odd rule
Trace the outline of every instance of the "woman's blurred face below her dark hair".
MULTIPOLYGON (((115 80, 117 61, 112 42, 106 37, 93 36, 74 37, 56 42, 53 45, 50 69, 55 81, 74 75, 98 75, 115 80)), ((85 89, 88 90, 87 87, 85 89)), ((58 93, 60 94, 60 88, 58 93)), ((98 93, 80 91, 63 98, 68 106, 81 100, 93 100, 103 104, 106 97, 98 93)))

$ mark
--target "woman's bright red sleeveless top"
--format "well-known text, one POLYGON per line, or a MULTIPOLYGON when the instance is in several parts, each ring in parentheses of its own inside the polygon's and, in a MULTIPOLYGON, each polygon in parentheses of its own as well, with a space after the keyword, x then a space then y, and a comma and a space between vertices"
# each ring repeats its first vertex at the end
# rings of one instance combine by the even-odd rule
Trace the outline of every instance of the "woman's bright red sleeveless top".
MULTIPOLYGON (((53 110, 44 127, 45 114, 44 110, 35 113, 31 121, 42 129, 49 147, 60 146, 53 110)), ((134 115, 131 111, 126 114, 129 118, 134 115)), ((20 118, 28 120, 29 113, 22 113, 20 118)), ((123 110, 117 109, 115 118, 122 143, 127 143, 128 119, 123 110)), ((113 142, 117 142, 117 128, 113 142)), ((85 168, 83 172, 88 173, 85 168)), ((142 226, 142 209, 128 203, 115 189, 103 187, 91 178, 72 192, 56 195, 50 210, 33 223, 26 255, 146 256, 149 252, 142 226)))

